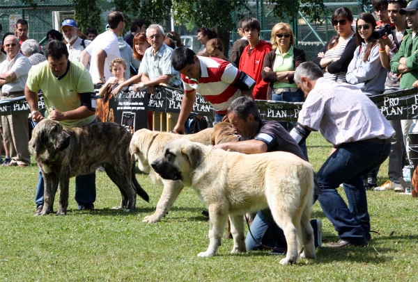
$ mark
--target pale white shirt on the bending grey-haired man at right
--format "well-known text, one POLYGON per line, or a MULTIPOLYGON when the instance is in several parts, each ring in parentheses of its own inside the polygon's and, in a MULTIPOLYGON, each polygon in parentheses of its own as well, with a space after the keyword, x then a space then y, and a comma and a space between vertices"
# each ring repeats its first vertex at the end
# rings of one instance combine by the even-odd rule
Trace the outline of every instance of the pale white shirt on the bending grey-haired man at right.
POLYGON ((366 94, 348 83, 319 78, 309 92, 297 122, 319 131, 334 146, 372 138, 391 138, 395 131, 366 94))

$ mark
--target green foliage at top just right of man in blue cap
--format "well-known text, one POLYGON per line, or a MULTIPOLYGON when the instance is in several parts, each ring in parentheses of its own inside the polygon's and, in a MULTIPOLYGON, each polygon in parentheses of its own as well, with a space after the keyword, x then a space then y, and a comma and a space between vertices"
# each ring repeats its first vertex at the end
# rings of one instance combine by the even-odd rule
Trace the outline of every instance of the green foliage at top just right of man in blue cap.
POLYGON ((80 30, 86 33, 89 26, 94 26, 101 30, 100 14, 102 13, 98 1, 92 0, 73 0, 75 9, 75 21, 80 30))

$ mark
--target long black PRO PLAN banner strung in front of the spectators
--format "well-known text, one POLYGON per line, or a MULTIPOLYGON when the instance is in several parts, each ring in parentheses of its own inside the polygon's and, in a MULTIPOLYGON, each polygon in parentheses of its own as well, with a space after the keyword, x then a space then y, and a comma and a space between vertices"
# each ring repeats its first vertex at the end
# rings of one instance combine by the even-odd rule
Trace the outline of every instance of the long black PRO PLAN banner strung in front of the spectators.
MULTIPOLYGON (((95 85, 96 92, 102 85, 95 85)), ((146 111, 152 110, 162 113, 180 113, 181 101, 184 91, 158 85, 157 92, 150 94, 146 89, 136 92, 132 87, 120 92, 117 97, 109 99, 109 108, 113 109, 114 121, 123 122, 123 119, 132 118, 134 114, 135 128, 144 126, 146 111), (148 99, 148 103, 147 100, 148 99), (148 107, 147 107, 148 106, 148 107), (124 114, 125 113, 125 114, 124 114)), ((399 90, 388 94, 380 94, 370 99, 376 103, 382 114, 387 119, 417 119, 418 118, 418 89, 399 90)), ((100 103, 98 101, 98 103, 100 103)), ((263 119, 275 119, 279 121, 297 121, 297 115, 302 109, 303 103, 290 103, 283 101, 256 100, 263 119)), ((43 100, 39 100, 39 108, 45 108, 43 100)), ((0 115, 13 113, 29 113, 29 106, 24 97, 6 99, 0 101, 0 115)), ((199 94, 196 94, 192 113, 213 117, 212 106, 199 94)), ((106 115, 109 121, 110 113, 106 115)), ((100 120, 102 120, 100 118, 100 120)), ((146 127, 146 124, 145 126, 146 127)))

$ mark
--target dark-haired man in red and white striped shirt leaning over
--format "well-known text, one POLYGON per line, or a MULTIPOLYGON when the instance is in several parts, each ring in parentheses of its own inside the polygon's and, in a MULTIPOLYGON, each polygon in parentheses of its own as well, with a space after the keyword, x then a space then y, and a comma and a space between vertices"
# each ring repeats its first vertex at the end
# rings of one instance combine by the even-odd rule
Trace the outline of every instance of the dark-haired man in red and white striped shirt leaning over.
POLYGON ((196 56, 191 49, 180 47, 173 51, 171 63, 180 72, 185 89, 175 133, 185 132, 196 92, 215 109, 215 123, 222 121, 231 102, 242 95, 236 85, 240 71, 226 60, 196 56))

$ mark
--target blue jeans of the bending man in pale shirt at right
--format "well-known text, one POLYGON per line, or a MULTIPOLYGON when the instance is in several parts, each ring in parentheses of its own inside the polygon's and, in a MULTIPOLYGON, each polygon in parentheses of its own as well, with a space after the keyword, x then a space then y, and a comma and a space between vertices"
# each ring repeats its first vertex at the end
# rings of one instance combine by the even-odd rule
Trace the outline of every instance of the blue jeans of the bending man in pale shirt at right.
POLYGON ((382 164, 390 148, 390 142, 343 143, 316 174, 322 191, 319 204, 340 239, 354 244, 366 244, 370 240, 370 217, 362 175, 382 164), (348 206, 336 191, 341 183, 348 206))

